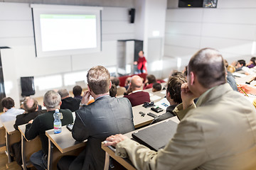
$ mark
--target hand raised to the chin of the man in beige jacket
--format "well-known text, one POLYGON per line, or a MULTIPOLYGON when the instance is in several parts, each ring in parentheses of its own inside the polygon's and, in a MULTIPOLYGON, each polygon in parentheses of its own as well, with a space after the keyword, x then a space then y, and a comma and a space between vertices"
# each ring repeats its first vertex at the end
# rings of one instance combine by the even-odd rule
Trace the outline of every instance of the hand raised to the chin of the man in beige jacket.
POLYGON ((181 84, 181 99, 183 104, 183 109, 188 108, 193 104, 193 99, 195 99, 196 96, 188 89, 188 84, 183 83, 181 84))

